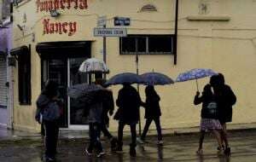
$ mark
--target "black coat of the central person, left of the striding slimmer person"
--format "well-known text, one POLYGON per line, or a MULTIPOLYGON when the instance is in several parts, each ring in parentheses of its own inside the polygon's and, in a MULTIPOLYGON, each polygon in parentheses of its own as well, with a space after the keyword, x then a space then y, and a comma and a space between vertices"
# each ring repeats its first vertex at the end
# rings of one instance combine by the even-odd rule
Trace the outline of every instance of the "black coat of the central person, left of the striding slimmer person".
POLYGON ((141 106, 141 97, 137 90, 131 85, 125 85, 119 90, 116 105, 119 107, 114 119, 125 124, 137 123, 139 119, 139 107, 141 106))

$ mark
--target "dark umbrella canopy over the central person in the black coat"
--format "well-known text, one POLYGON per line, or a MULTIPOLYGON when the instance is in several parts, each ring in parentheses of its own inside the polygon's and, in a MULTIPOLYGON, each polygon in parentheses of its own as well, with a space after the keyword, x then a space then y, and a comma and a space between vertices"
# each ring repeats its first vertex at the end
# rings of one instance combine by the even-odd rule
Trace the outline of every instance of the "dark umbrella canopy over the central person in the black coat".
POLYGON ((105 83, 107 86, 114 84, 143 84, 143 78, 132 72, 119 73, 105 83))

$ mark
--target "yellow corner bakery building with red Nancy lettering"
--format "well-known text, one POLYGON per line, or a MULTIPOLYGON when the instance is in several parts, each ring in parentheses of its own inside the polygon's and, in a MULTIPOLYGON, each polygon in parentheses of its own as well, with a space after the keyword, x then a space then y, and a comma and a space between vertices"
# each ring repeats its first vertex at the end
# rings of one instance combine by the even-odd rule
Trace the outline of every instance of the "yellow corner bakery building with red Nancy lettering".
MULTIPOLYGON (((39 130, 34 120, 35 101, 47 79, 60 84, 65 100, 61 126, 84 129, 82 107, 66 95, 67 87, 90 79, 78 72, 87 58, 103 60, 103 38, 94 28, 126 28, 123 38, 107 37, 107 78, 120 72, 162 72, 175 79, 179 72, 192 68, 212 68, 224 73, 227 84, 237 95, 234 124, 256 122, 252 84, 256 70, 256 3, 246 0, 180 0, 177 19, 177 63, 175 49, 174 0, 24 0, 14 8, 14 126, 21 130, 39 130), (125 18, 125 19, 123 19, 125 18), (128 19, 127 19, 128 18, 128 19), (116 21, 117 20, 117 21, 116 21), (128 21, 122 21, 128 20, 128 21), (125 24, 126 23, 126 24, 125 24)), ((200 90, 208 78, 199 81, 200 90)), ((121 86, 112 86, 116 99, 121 86)), ((196 86, 193 81, 157 86, 164 129, 198 126, 200 107, 193 105, 196 86)), ((144 86, 140 86, 144 97, 144 86)), ((143 109, 142 109, 143 119, 143 109)), ((117 122, 111 121, 111 130, 117 122)), ((153 128, 153 127, 152 127, 153 128)))

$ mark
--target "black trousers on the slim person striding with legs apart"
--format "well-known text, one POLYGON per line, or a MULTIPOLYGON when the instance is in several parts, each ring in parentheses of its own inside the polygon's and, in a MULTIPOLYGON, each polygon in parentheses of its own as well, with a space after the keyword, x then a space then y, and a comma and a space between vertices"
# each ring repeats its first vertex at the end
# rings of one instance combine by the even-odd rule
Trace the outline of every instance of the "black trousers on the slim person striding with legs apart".
POLYGON ((157 138, 158 140, 162 140, 162 130, 161 130, 161 126, 160 126, 160 117, 157 118, 150 118, 146 120, 146 124, 143 130, 143 135, 141 136, 142 140, 145 140, 145 137, 147 135, 148 132, 148 128, 150 126, 150 124, 152 123, 152 121, 154 120, 154 124, 156 126, 156 130, 157 130, 157 138))

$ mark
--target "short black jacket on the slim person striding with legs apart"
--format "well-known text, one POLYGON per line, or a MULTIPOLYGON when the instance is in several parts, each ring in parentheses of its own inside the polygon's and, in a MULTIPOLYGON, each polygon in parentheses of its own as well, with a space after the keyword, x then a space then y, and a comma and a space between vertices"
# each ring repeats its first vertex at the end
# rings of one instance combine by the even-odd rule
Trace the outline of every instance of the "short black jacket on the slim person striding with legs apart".
POLYGON ((161 116, 159 101, 160 96, 156 93, 146 97, 146 102, 143 103, 143 107, 145 107, 145 119, 154 119, 161 116))

